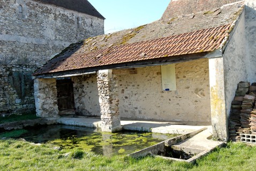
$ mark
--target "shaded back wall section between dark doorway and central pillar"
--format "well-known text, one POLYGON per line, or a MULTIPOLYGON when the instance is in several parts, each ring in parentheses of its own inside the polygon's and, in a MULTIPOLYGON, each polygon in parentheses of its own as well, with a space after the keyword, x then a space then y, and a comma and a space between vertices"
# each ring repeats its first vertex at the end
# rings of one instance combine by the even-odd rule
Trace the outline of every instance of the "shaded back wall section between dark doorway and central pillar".
POLYGON ((76 76, 72 77, 72 81, 74 82, 74 103, 77 114, 100 116, 97 76, 95 74, 76 76))

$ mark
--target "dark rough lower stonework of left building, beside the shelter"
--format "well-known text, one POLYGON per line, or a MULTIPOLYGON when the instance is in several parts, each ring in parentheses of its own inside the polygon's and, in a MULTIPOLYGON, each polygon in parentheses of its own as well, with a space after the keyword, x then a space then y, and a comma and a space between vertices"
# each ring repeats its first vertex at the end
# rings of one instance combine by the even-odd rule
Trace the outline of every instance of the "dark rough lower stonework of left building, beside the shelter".
POLYGON ((22 114, 34 111, 34 68, 27 65, 2 65, 0 67, 0 114, 22 114))

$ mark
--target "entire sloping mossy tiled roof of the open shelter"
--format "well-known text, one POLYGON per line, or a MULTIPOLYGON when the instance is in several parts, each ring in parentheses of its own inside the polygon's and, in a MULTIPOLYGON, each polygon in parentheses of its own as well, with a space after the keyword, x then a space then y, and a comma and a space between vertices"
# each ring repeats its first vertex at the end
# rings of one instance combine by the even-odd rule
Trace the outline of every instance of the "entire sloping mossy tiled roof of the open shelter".
POLYGON ((91 37, 71 44, 34 75, 212 51, 220 47, 243 9, 244 2, 239 2, 207 14, 199 12, 91 37))

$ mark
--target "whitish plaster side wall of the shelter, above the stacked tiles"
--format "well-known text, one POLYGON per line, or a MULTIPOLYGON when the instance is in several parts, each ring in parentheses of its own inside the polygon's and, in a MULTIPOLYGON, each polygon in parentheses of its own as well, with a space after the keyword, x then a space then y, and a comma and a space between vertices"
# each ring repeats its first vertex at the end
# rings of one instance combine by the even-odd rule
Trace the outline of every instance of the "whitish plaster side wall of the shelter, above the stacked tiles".
POLYGON ((245 17, 240 16, 239 22, 234 27, 234 34, 225 48, 223 54, 224 88, 226 115, 229 116, 231 102, 235 97, 237 84, 240 81, 250 81, 247 72, 250 62, 246 57, 245 17))

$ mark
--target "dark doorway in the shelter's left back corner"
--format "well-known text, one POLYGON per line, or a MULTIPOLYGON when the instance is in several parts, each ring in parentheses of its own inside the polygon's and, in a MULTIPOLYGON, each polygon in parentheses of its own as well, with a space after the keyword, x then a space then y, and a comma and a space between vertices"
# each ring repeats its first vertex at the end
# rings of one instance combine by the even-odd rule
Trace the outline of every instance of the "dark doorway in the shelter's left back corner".
POLYGON ((56 83, 59 115, 75 114, 73 82, 58 79, 56 83))

